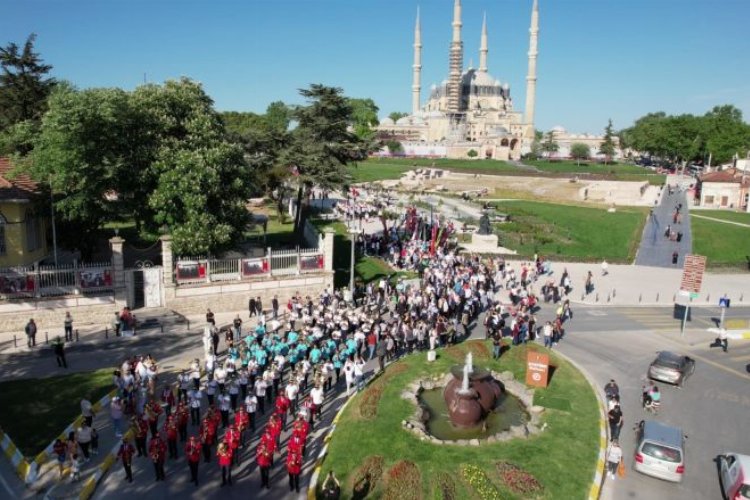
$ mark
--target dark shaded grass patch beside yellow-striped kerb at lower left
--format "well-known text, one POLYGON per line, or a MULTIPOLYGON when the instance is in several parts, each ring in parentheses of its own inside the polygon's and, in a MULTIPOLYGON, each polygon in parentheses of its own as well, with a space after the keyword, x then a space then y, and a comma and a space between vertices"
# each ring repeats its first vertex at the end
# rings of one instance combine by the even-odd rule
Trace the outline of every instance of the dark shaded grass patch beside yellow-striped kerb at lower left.
POLYGON ((44 450, 81 414, 113 389, 112 369, 0 383, 0 426, 24 456, 44 450))

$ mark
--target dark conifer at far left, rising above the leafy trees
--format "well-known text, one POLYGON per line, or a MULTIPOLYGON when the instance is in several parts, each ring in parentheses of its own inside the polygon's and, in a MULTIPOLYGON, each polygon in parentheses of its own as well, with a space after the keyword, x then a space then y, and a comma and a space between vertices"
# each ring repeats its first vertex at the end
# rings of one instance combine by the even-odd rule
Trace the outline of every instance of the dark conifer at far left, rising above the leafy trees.
POLYGON ((34 52, 32 33, 21 49, 15 43, 0 47, 0 131, 23 121, 38 122, 47 110, 47 97, 55 80, 47 75, 52 66, 34 52))

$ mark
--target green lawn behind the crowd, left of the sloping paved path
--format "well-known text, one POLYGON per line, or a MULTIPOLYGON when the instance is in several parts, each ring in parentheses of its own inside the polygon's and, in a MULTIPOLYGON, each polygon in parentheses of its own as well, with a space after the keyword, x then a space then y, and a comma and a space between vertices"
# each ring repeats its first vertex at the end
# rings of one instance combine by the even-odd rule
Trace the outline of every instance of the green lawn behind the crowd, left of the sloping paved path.
POLYGON ((511 222, 496 224, 500 244, 524 256, 631 262, 638 249, 647 208, 602 208, 531 201, 493 203, 511 222))

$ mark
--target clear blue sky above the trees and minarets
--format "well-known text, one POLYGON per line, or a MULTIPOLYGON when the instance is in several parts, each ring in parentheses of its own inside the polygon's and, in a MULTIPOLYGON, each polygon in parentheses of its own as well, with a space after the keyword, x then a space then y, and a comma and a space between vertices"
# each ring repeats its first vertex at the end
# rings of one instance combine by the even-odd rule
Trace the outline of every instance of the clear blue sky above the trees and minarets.
MULTIPOLYGON (((131 89, 189 76, 220 110, 299 102, 309 83, 409 111, 414 18, 423 100, 448 73, 453 0, 0 0, 0 43, 38 35, 54 75, 131 89)), ((487 12, 490 73, 525 102, 531 0, 463 0, 465 64, 487 12)), ((750 1, 540 0, 537 128, 598 132, 651 111, 734 104, 750 121, 750 1)))

